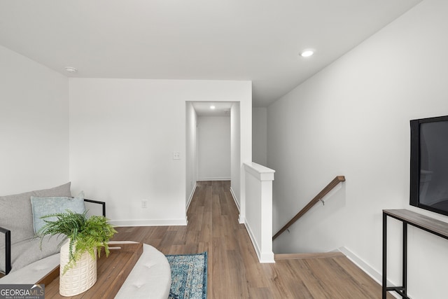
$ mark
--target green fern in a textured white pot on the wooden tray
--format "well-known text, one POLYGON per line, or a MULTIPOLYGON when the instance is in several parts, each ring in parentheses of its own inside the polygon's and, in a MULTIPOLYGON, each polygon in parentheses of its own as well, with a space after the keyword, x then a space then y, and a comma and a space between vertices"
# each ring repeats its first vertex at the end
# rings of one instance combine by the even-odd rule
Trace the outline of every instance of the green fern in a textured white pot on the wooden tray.
POLYGON ((65 242, 61 246, 59 293, 61 295, 77 295, 86 291, 97 281, 96 257, 97 254, 100 257, 102 247, 104 247, 106 256, 109 256, 108 242, 116 233, 113 225, 108 223, 108 219, 104 216, 87 218, 87 211, 78 214, 67 210, 64 213, 50 214, 41 218, 45 221, 45 225, 36 234, 41 238, 41 242, 45 235, 64 235, 59 246, 69 239, 69 242, 65 242), (45 220, 47 218, 55 220, 45 220), (87 276, 88 281, 74 277, 78 273, 85 272, 85 270, 73 270, 76 267, 90 268, 89 271, 92 274, 87 276), (73 281, 80 281, 80 286, 73 287, 73 281))

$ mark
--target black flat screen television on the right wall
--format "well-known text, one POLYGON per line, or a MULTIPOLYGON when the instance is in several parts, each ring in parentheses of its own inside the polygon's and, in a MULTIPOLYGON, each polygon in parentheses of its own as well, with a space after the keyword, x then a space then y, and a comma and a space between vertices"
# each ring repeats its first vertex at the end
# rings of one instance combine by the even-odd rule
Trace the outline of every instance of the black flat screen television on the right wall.
POLYGON ((448 216, 448 116, 411 120, 409 204, 448 216))

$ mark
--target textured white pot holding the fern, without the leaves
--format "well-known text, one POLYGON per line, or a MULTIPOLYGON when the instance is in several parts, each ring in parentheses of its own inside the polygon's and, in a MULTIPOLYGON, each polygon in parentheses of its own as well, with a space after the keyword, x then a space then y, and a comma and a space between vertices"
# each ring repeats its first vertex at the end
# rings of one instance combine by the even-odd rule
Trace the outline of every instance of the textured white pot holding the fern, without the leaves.
POLYGON ((59 267, 59 294, 65 297, 78 295, 91 288, 97 282, 97 251, 95 258, 85 251, 76 265, 62 274, 65 265, 69 263, 69 242, 61 247, 59 267))

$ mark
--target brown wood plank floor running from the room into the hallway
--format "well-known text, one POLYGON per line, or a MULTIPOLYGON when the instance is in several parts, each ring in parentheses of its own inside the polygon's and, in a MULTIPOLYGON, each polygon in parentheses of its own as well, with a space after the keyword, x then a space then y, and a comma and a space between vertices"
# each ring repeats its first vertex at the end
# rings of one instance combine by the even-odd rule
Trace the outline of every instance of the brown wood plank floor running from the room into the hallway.
POLYGON ((116 229, 114 239, 151 244, 165 254, 207 251, 209 299, 381 298, 381 286, 345 256, 260 264, 238 223, 229 181, 197 183, 186 226, 116 229))

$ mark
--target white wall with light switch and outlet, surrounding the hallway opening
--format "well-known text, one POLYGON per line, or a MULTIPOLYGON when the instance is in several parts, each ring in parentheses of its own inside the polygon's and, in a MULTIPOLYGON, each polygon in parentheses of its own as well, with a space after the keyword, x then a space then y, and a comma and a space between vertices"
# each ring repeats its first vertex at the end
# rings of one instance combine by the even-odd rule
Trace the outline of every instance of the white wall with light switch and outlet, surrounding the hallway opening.
MULTIPOLYGON (((106 200, 117 225, 185 224, 189 101, 239 102, 251 119, 248 81, 71 79, 73 190, 106 200)), ((251 124, 241 131, 251 139, 251 124)), ((250 146, 241 151, 251 158, 250 146)))

